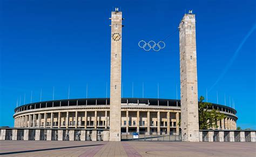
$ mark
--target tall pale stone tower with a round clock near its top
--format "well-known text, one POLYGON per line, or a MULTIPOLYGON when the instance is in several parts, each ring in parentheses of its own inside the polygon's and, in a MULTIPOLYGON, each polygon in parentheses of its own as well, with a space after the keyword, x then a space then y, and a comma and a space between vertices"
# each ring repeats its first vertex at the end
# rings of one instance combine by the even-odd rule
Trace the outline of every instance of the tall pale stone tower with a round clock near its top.
POLYGON ((111 12, 110 141, 121 140, 122 12, 111 12))

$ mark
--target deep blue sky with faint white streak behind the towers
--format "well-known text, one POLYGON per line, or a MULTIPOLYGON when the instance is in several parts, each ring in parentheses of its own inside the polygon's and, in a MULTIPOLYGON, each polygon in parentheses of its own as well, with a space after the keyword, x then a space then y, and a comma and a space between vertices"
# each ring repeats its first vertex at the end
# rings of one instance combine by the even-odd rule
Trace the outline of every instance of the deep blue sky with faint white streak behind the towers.
MULTIPOLYGON (((139 40, 161 40, 177 30, 184 12, 196 14, 199 95, 238 111, 237 125, 256 129, 255 1, 1 1, 0 126, 13 126, 14 108, 40 99, 106 97, 110 84, 111 10, 123 24, 123 97, 176 99, 179 36, 146 52, 139 40), (254 29, 254 30, 253 30, 254 29), (19 100, 18 100, 19 104, 19 100)), ((179 98, 179 96, 178 96, 179 98)))

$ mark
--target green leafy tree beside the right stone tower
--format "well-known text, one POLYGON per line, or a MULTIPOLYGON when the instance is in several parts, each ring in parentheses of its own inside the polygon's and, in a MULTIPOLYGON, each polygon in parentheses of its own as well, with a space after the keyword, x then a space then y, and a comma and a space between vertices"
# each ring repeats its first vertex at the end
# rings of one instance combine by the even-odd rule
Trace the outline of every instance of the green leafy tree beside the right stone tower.
POLYGON ((220 113, 215 108, 212 109, 211 103, 204 103, 203 96, 200 97, 198 103, 199 112, 199 129, 217 128, 217 121, 226 118, 225 114, 220 113))

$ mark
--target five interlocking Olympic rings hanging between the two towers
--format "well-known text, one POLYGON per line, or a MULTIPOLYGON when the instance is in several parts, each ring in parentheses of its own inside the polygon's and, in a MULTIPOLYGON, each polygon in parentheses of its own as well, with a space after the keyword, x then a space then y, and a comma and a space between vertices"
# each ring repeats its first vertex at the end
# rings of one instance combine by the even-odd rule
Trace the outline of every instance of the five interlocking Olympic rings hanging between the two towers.
POLYGON ((156 43, 153 40, 150 40, 148 43, 146 43, 144 40, 140 40, 138 45, 145 51, 150 51, 151 49, 153 49, 154 51, 160 51, 165 47, 165 43, 163 41, 156 43))

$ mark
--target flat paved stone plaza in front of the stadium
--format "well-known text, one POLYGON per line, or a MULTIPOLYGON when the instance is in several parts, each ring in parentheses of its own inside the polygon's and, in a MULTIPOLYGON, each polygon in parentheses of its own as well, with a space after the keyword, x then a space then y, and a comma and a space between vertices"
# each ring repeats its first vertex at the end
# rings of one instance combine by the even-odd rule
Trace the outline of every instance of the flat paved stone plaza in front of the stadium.
POLYGON ((3 156, 256 156, 255 142, 0 141, 3 156))

